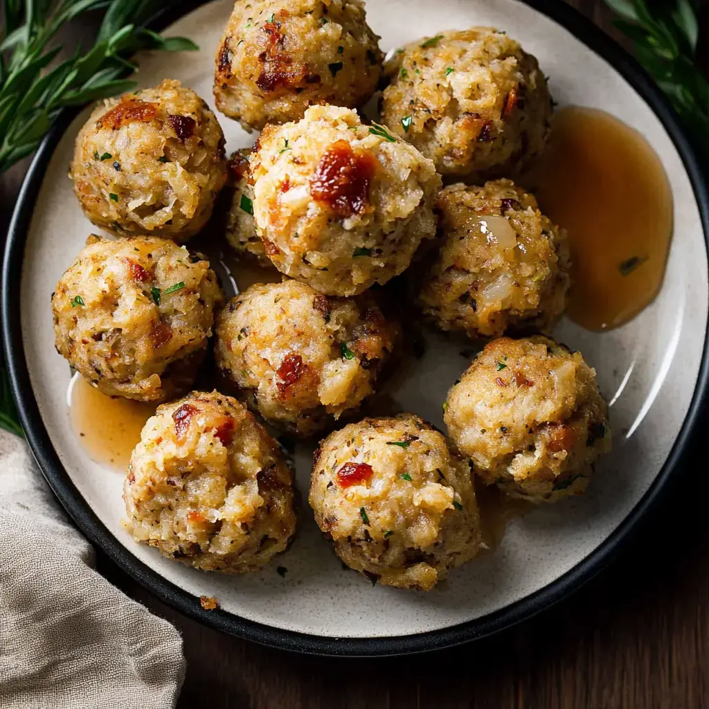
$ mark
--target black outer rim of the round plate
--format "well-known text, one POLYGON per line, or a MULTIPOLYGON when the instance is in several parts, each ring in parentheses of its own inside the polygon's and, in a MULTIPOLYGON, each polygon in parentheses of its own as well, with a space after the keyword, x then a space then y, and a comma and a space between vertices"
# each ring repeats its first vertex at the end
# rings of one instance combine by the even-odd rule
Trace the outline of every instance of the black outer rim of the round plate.
MULTIPOLYGON (((164 28, 196 7, 204 4, 191 1, 174 6, 157 18, 156 28, 164 28)), ((637 65, 620 46, 608 38, 600 29, 578 11, 564 4, 562 0, 527 0, 527 4, 537 11, 549 16, 552 20, 569 30, 588 48, 600 55, 629 82, 652 108, 656 116, 674 141, 679 151, 685 169, 691 179, 693 191, 698 202, 700 218, 703 225, 705 240, 709 246, 709 195, 696 155, 683 134, 676 114, 667 104, 661 91, 652 79, 637 65)), ((560 576, 548 586, 532 593, 516 603, 506 606, 496 613, 468 621, 452 627, 424 632, 417 635, 401 637, 375 638, 336 638, 317 635, 304 635, 289 630, 279 630, 251 620, 239 618, 222 610, 203 610, 199 598, 183 591, 164 579, 160 574, 140 562, 137 557, 125 549, 123 545, 104 526, 91 511, 88 503, 79 494, 71 479, 62 467, 57 452, 52 447, 45 425, 40 416, 23 352, 23 342, 20 330, 19 292, 21 284, 22 262, 24 257, 23 244, 30 227, 35 200, 43 182, 45 168, 62 134, 77 111, 67 111, 52 126, 35 155, 26 179, 23 182, 16 208, 11 220, 6 251, 3 263, 3 284, 1 312, 3 318, 3 340, 6 362, 13 395, 18 405, 22 425, 26 431, 27 440, 33 451, 40 469, 54 490, 57 498, 66 508, 69 515, 77 523, 89 540, 108 554, 113 562, 121 566, 134 579, 143 584, 165 603, 181 611, 185 615, 196 618, 205 625, 230 633, 247 640, 253 640, 270 647, 279 647, 295 652, 320 654, 328 656, 384 656, 425 652, 433 649, 452 647, 456 644, 476 640, 503 628, 519 623, 579 588, 581 584, 591 579, 610 562, 621 542, 629 536, 633 527, 654 505, 665 488, 670 476, 678 467, 681 454, 691 438, 693 428, 698 421, 703 404, 709 393, 709 358, 708 342, 705 342, 703 357, 696 388, 689 411, 686 415, 679 435, 669 452, 664 466, 654 479, 649 490, 632 509, 629 515, 611 534, 583 561, 573 569, 560 576)))

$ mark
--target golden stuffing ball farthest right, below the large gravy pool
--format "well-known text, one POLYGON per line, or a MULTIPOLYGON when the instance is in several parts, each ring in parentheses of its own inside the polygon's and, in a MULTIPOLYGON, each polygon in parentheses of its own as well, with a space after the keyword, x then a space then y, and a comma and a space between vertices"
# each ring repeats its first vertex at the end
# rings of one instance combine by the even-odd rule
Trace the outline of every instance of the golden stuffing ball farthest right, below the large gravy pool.
POLYGON ((448 393, 444 418, 487 484, 535 503, 584 492, 610 450, 596 372, 542 336, 487 345, 448 393))

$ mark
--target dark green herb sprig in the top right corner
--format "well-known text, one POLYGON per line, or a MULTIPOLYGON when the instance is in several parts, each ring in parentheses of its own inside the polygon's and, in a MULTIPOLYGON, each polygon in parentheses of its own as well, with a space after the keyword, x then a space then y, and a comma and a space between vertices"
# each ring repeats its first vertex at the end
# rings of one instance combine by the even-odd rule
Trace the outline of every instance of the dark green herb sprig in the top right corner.
POLYGON ((709 82, 696 65, 698 1, 605 0, 635 55, 682 119, 703 159, 709 160, 709 82))

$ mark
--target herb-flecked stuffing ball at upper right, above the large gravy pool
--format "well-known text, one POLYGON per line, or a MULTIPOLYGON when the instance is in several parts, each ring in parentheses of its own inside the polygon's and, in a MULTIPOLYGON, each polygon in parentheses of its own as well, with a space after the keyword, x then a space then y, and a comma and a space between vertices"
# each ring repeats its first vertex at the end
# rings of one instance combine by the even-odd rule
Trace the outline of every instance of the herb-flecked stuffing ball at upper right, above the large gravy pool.
POLYGON ((503 32, 442 32, 398 50, 385 72, 382 122, 441 174, 511 174, 546 143, 547 80, 503 32))

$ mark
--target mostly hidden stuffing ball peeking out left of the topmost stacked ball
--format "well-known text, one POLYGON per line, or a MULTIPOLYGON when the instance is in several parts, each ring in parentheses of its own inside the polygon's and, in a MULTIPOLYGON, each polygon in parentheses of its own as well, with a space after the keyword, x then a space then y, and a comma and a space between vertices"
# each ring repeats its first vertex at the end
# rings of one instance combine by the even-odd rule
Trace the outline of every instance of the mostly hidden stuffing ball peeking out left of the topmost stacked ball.
POLYGON ((254 222, 254 188, 249 182, 250 148, 238 150, 229 160, 230 182, 234 194, 227 215, 226 240, 240 257, 247 257, 262 266, 271 266, 266 247, 254 222))

